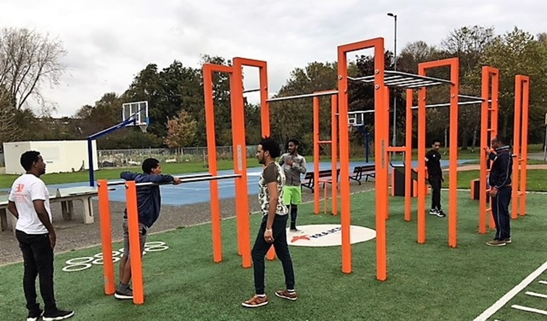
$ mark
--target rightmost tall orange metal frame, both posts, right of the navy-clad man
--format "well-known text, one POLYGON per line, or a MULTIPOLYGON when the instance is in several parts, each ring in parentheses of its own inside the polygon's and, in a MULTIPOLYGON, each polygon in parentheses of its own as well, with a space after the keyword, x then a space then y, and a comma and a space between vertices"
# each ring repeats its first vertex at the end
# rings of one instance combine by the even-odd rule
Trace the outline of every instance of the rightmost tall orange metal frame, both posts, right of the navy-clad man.
POLYGON ((528 108, 530 79, 515 76, 515 126, 513 137, 513 204, 511 218, 526 215, 526 179, 528 171, 528 108), (520 179, 520 181, 519 181, 520 179))

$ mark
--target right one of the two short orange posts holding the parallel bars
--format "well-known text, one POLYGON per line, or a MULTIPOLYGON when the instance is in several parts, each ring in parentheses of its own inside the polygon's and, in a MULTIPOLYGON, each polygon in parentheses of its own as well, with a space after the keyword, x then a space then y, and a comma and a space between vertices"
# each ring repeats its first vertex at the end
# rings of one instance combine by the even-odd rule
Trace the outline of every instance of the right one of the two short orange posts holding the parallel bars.
MULTIPOLYGON (((131 283, 133 284, 133 303, 144 303, 144 286, 142 277, 142 251, 139 241, 137 187, 135 181, 125 182, 127 203, 127 229, 129 230, 129 247, 131 255, 131 283)), ((127 250, 127 249, 126 249, 127 250)))

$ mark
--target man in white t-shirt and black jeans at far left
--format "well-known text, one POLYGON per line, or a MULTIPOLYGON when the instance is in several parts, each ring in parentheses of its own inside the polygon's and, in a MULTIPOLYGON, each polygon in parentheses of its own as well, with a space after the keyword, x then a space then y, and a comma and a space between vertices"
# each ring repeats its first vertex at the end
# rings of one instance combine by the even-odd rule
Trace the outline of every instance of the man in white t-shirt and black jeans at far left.
POLYGON ((67 319, 72 317, 74 312, 59 310, 53 292, 53 248, 56 236, 51 225, 49 192, 40 180, 40 175, 45 173, 45 163, 39 152, 27 151, 21 155, 21 166, 26 174, 13 182, 8 210, 18 219, 15 235, 25 265, 23 289, 27 301, 27 321, 35 321, 40 316, 44 321, 67 319), (44 311, 36 302, 38 275, 44 311))

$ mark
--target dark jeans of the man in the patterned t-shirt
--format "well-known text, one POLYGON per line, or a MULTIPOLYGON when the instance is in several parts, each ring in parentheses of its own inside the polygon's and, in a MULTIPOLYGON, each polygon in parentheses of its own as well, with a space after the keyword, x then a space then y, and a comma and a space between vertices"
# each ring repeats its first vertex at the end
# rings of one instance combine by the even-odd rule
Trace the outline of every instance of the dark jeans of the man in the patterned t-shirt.
MULTIPOLYGON (((288 215, 276 215, 274 224, 272 225, 272 233, 274 235, 274 248, 277 258, 283 265, 283 274, 285 275, 285 284, 287 289, 294 289, 294 270, 293 261, 290 259, 289 246, 287 245, 287 217, 288 215)), ((264 294, 264 257, 271 243, 264 240, 264 232, 266 231, 267 216, 262 219, 260 230, 258 231, 257 240, 253 246, 253 270, 254 270, 254 289, 256 294, 264 294)))

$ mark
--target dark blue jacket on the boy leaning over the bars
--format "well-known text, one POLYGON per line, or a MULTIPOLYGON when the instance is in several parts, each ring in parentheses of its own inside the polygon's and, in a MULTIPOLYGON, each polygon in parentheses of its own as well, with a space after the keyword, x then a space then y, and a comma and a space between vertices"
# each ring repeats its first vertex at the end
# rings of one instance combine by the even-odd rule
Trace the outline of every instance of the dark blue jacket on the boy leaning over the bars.
MULTIPOLYGON (((173 181, 171 175, 152 175, 146 173, 132 173, 123 171, 120 178, 136 183, 168 183, 173 181)), ((158 185, 137 186, 138 221, 148 228, 156 222, 160 216, 161 194, 158 185)), ((124 218, 127 218, 127 208, 124 211, 124 218)))

